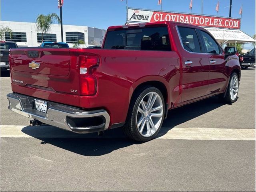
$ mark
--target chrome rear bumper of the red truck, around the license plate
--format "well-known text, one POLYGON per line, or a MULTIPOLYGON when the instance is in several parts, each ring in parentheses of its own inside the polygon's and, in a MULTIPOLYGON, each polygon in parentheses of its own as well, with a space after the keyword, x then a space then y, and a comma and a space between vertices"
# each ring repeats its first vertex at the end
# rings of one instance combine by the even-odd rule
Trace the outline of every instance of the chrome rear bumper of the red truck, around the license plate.
POLYGON ((110 124, 110 116, 106 110, 84 111, 47 101, 48 110, 47 113, 44 113, 34 109, 36 98, 10 93, 7 95, 7 99, 9 100, 8 108, 13 112, 72 132, 99 132, 108 129, 110 124))

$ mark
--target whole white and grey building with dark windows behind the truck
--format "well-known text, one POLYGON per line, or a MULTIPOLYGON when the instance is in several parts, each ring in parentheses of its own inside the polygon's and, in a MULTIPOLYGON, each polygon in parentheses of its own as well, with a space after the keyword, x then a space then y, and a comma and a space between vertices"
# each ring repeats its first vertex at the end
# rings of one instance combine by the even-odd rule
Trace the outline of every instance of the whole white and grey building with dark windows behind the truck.
MULTIPOLYGON (((13 32, 5 34, 6 41, 15 41, 19 47, 39 46, 42 42, 42 35, 36 31, 36 24, 31 22, 1 21, 1 26, 8 26, 13 32)), ((63 41, 70 47, 78 40, 88 45, 102 45, 106 30, 88 26, 63 25, 63 41)), ((43 35, 44 41, 61 42, 60 25, 53 24, 49 32, 43 35)))

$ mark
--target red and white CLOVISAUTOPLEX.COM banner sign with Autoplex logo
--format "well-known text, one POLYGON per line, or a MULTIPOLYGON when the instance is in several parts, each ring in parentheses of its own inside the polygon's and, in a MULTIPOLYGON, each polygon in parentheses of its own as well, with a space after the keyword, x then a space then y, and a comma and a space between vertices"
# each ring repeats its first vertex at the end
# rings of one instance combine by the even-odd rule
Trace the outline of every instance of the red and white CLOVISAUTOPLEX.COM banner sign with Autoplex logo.
POLYGON ((240 19, 128 8, 128 21, 175 21, 204 27, 240 29, 240 19))

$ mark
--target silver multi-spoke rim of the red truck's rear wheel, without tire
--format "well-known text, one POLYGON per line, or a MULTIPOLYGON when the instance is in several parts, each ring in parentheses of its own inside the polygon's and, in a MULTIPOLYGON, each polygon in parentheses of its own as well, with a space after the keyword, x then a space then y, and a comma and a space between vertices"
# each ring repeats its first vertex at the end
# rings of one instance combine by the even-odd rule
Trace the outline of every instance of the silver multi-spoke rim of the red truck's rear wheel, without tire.
POLYGON ((160 95, 156 92, 146 94, 138 106, 136 124, 144 137, 152 136, 162 122, 164 106, 160 95))

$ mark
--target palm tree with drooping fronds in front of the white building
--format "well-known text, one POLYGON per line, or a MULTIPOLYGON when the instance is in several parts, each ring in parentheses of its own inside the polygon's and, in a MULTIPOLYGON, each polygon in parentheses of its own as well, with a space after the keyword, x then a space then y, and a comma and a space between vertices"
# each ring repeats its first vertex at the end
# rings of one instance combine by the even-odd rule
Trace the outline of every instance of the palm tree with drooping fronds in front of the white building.
POLYGON ((43 42, 43 34, 51 30, 52 24, 54 22, 57 22, 58 24, 60 24, 60 18, 56 13, 52 13, 48 15, 40 14, 37 16, 36 30, 38 32, 41 32, 42 42, 43 42))

